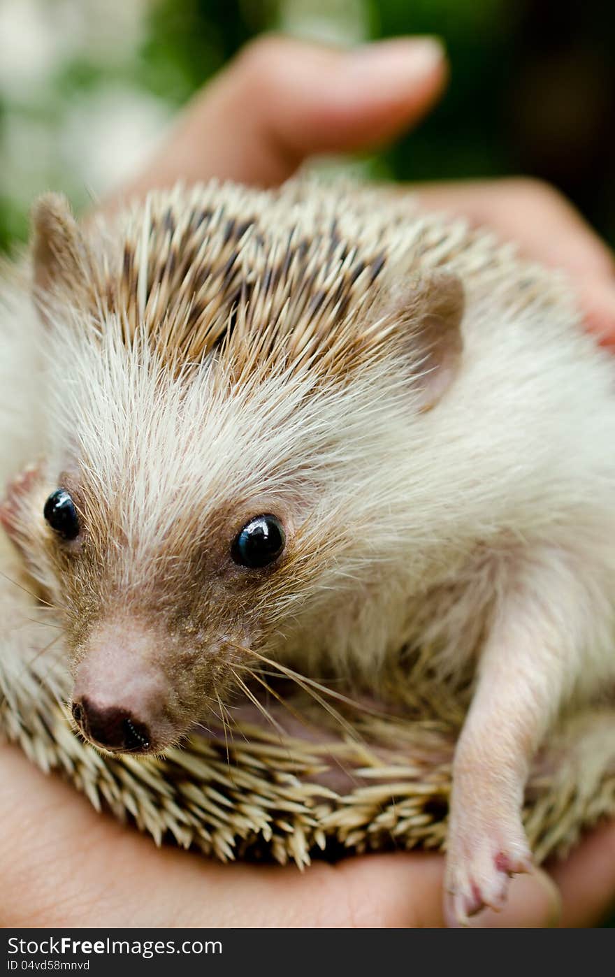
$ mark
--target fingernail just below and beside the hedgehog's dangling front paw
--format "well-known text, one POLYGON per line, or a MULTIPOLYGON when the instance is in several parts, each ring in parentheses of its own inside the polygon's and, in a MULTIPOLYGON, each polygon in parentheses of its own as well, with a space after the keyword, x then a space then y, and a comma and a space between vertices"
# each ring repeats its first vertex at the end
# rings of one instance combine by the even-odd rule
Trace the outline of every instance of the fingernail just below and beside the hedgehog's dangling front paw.
POLYGON ((559 890, 547 872, 535 869, 515 875, 500 913, 484 910, 472 916, 472 929, 540 929, 557 926, 561 915, 559 890))

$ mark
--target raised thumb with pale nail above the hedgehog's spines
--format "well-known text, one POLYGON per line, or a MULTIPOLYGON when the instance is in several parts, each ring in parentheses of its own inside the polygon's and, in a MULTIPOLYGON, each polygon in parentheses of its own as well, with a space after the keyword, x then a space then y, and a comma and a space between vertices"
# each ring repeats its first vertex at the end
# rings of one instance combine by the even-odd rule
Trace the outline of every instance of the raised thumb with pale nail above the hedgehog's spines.
POLYGON ((349 51, 261 38, 198 94, 123 195, 212 176, 281 183, 313 153, 393 139, 431 106, 446 74, 433 38, 349 51))

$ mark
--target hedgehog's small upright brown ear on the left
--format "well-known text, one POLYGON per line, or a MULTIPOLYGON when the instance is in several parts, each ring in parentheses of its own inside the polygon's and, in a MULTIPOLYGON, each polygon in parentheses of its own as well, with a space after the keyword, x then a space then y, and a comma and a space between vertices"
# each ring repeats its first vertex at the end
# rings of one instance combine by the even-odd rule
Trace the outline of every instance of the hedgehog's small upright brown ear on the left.
POLYGON ((62 289, 73 295, 87 283, 88 249, 66 197, 46 193, 32 208, 34 300, 48 319, 49 297, 62 289))

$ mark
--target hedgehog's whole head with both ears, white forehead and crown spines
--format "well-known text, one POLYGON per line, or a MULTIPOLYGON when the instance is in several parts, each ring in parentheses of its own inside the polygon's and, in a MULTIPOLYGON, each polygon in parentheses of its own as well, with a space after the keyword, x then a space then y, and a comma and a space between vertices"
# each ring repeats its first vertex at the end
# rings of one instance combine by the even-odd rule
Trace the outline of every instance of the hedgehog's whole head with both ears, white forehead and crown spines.
MULTIPOLYGON (((242 208, 262 207, 244 193, 242 208)), ((322 238, 311 251, 292 231, 280 265, 266 234, 242 251, 235 221, 195 243, 205 210, 196 224, 190 206, 192 250, 146 208, 141 251, 120 240, 104 262, 57 199, 35 214, 49 450, 0 520, 61 616, 75 722, 115 751, 177 742, 249 698, 263 658, 309 658, 334 640, 340 603, 390 589, 409 551, 408 472, 390 459, 410 453, 461 351, 456 276, 378 290, 380 253, 355 259, 336 237, 311 275, 322 238)))

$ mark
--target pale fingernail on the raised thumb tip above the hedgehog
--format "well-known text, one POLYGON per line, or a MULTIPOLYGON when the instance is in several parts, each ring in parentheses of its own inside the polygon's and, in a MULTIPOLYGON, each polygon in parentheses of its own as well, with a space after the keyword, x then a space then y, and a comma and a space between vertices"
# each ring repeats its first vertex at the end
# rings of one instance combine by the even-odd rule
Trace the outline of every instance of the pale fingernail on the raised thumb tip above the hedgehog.
POLYGON ((437 37, 395 37, 355 48, 345 59, 344 70, 352 72, 359 84, 381 90, 411 85, 444 60, 444 46, 437 37))

